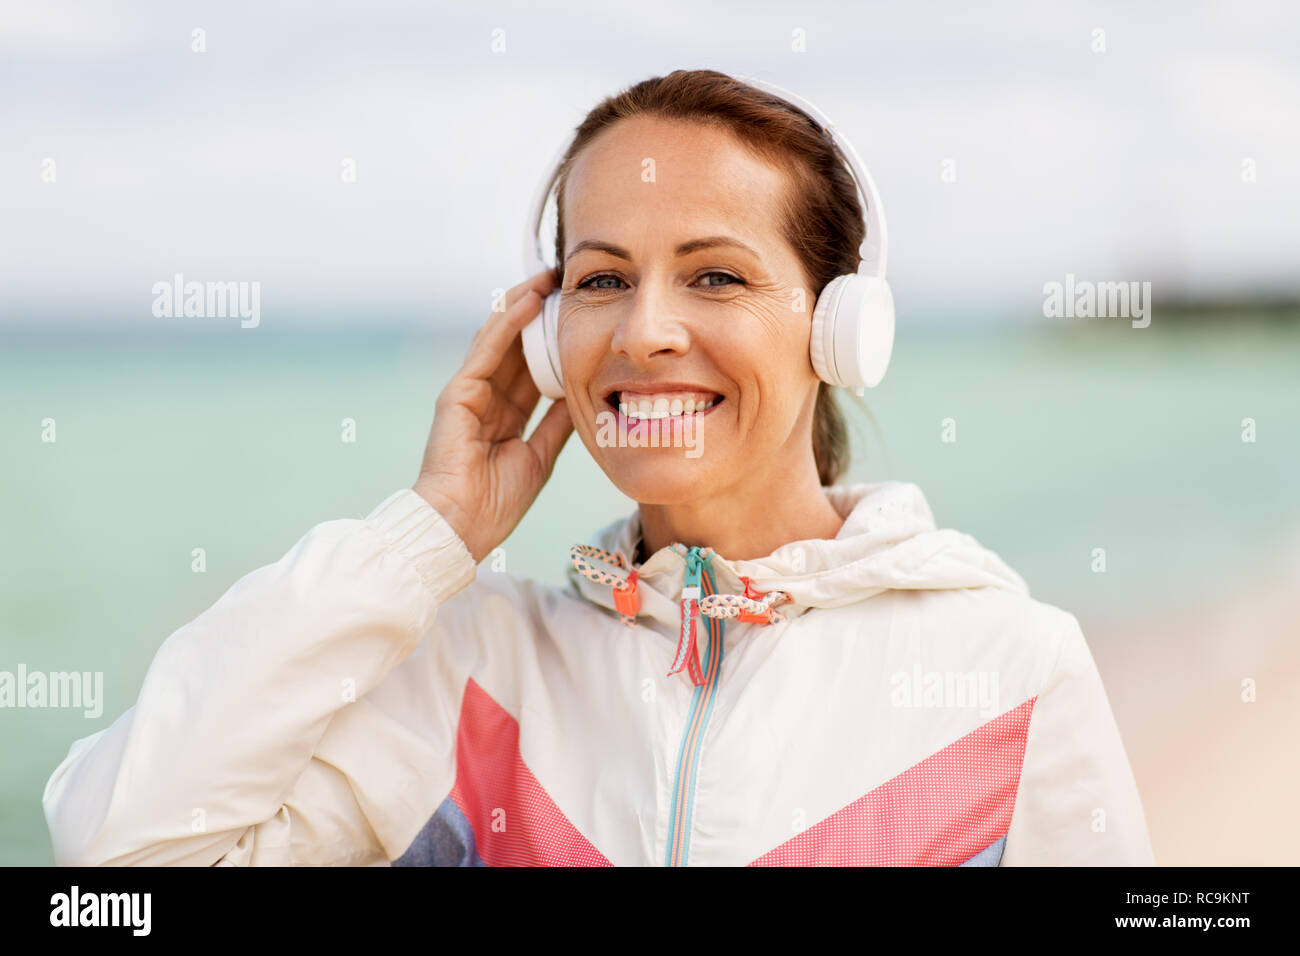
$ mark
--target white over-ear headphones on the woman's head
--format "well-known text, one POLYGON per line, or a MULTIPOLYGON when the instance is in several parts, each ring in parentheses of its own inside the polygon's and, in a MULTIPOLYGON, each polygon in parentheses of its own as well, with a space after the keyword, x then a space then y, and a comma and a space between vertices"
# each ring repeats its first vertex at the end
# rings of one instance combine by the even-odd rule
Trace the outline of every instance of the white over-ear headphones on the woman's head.
MULTIPOLYGON (((853 144, 840 135, 835 124, 816 107, 779 86, 753 77, 733 77, 758 90, 772 94, 798 107, 818 122, 848 160, 849 172, 858 186, 866 208, 866 239, 859 248, 862 261, 857 273, 836 276, 816 299, 812 310, 812 336, 809 356, 818 377, 831 385, 854 389, 875 388, 884 378, 893 352, 894 307, 893 293, 885 281, 885 213, 871 173, 862 164, 853 144)), ((524 237, 524 268, 528 274, 546 269, 542 259, 541 225, 546 203, 573 138, 559 148, 550 170, 542 178, 529 213, 529 232, 524 237)), ((563 398, 559 350, 560 293, 546 297, 538 316, 524 328, 524 359, 537 384, 537 390, 547 398, 563 398)))

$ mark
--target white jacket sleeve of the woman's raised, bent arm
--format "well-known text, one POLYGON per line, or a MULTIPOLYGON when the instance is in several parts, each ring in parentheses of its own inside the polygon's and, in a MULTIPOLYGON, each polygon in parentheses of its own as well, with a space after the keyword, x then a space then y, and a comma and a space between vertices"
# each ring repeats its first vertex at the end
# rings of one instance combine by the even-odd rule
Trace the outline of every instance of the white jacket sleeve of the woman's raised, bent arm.
MULTIPOLYGON (((72 745, 43 797, 55 861, 393 858, 413 818, 386 814, 419 803, 417 774, 399 766, 358 788, 329 761, 330 739, 347 737, 351 753, 369 740, 376 771, 391 766, 402 728, 367 695, 473 578, 465 545, 408 489, 365 519, 315 527, 168 637, 135 705, 72 745)), ((452 702, 426 710, 447 724, 432 736, 448 750, 452 702)))

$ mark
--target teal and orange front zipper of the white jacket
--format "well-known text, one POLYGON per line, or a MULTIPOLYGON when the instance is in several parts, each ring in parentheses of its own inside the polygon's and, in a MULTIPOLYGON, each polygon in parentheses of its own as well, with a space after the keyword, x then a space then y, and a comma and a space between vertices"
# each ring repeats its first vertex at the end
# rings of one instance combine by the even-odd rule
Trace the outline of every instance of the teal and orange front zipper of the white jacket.
MULTIPOLYGON (((708 558, 699 548, 686 551, 686 580, 682 588, 701 588, 705 594, 716 591, 708 558)), ((697 602, 698 605, 698 602, 697 602)), ((682 605, 688 614, 688 605, 682 605)), ((723 622, 719 618, 705 618, 708 627, 708 644, 705 648, 701 670, 705 683, 696 687, 690 698, 686 727, 677 748, 677 770, 672 780, 672 801, 668 812, 668 844, 664 849, 664 866, 685 866, 690 857, 690 816, 696 803, 696 771, 699 766, 701 744, 705 728, 714 710, 718 696, 718 675, 723 663, 723 622)))

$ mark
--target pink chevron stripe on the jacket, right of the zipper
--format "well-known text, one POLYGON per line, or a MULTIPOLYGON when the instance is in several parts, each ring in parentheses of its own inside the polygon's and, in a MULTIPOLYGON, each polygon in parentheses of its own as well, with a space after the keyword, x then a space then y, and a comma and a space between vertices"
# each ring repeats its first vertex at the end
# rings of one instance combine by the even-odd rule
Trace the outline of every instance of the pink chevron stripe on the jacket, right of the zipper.
POLYGON ((1031 697, 768 851, 750 866, 956 866, 1002 838, 1031 697))

